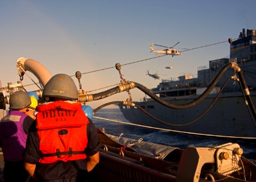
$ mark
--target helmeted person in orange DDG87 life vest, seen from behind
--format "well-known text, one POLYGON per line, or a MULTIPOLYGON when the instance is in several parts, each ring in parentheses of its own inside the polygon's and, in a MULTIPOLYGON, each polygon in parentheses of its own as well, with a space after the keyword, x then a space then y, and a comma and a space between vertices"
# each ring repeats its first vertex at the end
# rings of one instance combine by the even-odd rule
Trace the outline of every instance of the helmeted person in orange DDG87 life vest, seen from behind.
POLYGON ((57 74, 43 89, 49 103, 37 107, 27 138, 25 167, 38 181, 86 181, 99 163, 96 127, 82 110, 73 79, 57 74))

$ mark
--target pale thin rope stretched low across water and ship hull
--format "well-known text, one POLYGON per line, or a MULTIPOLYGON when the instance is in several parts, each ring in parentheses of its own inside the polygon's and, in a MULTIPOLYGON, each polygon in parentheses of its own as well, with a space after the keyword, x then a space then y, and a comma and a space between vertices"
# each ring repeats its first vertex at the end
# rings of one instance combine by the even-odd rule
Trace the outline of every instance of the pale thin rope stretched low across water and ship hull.
POLYGON ((97 119, 99 119, 99 120, 112 121, 112 122, 115 122, 115 123, 129 124, 129 125, 132 125, 132 126, 145 127, 145 128, 149 128, 149 129, 164 130, 164 131, 176 132, 176 133, 187 133, 187 134, 191 134, 191 135, 218 136, 218 137, 226 137, 226 138, 246 138, 246 139, 255 139, 254 137, 223 136, 223 135, 210 135, 210 134, 194 133, 194 132, 182 132, 182 131, 179 131, 179 130, 163 129, 163 128, 160 128, 160 127, 152 127, 152 126, 145 126, 145 125, 141 125, 141 124, 127 123, 127 122, 124 122, 124 121, 118 121, 118 120, 112 120, 112 119, 107 119, 107 118, 101 118, 101 117, 98 117, 98 116, 93 116, 93 118, 97 118, 97 119))

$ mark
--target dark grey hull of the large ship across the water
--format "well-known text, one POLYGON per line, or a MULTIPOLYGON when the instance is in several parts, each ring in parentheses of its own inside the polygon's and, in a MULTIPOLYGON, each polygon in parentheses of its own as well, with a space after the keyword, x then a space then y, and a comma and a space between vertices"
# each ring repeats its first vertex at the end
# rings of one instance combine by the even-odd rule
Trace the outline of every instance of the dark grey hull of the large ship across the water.
MULTIPOLYGON (((170 109, 152 99, 144 102, 135 102, 144 107, 147 112, 169 124, 186 124, 194 121, 205 112, 213 101, 215 94, 209 95, 202 103, 190 109, 170 109)), ((163 98, 172 104, 191 102, 197 96, 174 99, 163 98)), ((251 93, 253 103, 256 103, 256 92, 251 93)), ((157 127, 158 129, 173 132, 183 132, 196 135, 219 136, 229 138, 256 139, 255 124, 245 104, 241 92, 222 93, 215 104, 202 118, 185 126, 169 126, 154 120, 136 107, 119 106, 121 112, 130 123, 157 127)))

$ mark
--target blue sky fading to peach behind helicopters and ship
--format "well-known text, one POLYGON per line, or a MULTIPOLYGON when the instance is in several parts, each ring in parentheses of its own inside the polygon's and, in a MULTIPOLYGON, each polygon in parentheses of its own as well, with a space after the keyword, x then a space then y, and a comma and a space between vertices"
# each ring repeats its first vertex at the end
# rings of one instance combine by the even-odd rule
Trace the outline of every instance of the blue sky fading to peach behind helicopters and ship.
MULTIPOLYGON (((149 44, 191 49, 238 38, 242 29, 256 29, 256 1, 0 1, 1 82, 18 81, 16 60, 35 59, 52 75, 74 75, 126 64, 156 56, 149 44)), ((159 80, 146 71, 174 78, 197 73, 197 67, 229 55, 229 44, 191 50, 181 56, 129 64, 122 67, 124 78, 146 87, 159 80), (165 69, 171 65, 173 69, 165 69)), ((115 69, 82 76, 84 90, 118 84, 115 69)), ((25 85, 32 83, 24 78, 25 85)), ((76 81, 77 83, 77 81, 76 81)), ((78 84, 77 84, 78 86, 78 84)), ((33 87, 27 88, 34 89, 33 87)), ((35 88, 36 89, 36 88, 35 88)), ((103 91, 103 90, 101 90, 103 91)), ((94 92, 95 93, 95 92, 94 92)), ((131 90, 133 100, 143 97, 131 90)), ((128 98, 120 93, 88 103, 97 107, 108 101, 128 98)))

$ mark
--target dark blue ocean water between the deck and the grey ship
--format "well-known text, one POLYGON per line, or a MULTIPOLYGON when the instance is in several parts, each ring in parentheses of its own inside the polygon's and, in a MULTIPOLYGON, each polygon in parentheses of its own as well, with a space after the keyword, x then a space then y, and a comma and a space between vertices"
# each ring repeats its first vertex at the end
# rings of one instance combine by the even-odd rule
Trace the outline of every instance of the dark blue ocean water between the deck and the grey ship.
MULTIPOLYGON (((98 110, 94 116, 129 123, 119 109, 101 109, 98 110)), ((122 136, 126 138, 135 140, 143 138, 143 141, 179 147, 180 149, 185 149, 188 146, 215 147, 225 143, 238 143, 244 151, 243 156, 256 163, 256 144, 254 140, 232 140, 209 136, 188 135, 115 123, 113 121, 106 121, 98 118, 93 118, 93 123, 98 128, 103 127, 105 132, 111 135, 119 136, 123 133, 122 136)))

